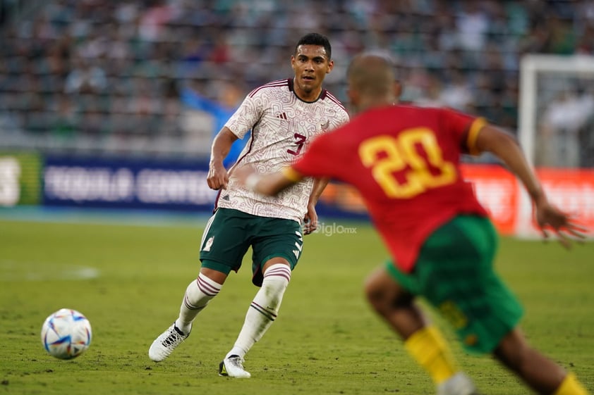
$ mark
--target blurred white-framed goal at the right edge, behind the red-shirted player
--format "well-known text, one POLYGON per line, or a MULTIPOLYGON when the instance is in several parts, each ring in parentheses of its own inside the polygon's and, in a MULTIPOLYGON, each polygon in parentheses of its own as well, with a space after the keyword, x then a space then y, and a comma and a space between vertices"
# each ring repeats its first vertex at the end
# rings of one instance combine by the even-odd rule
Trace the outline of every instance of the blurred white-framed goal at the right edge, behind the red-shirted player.
MULTIPOLYGON (((594 223, 594 56, 527 55, 520 65, 518 137, 550 199, 594 223)), ((516 234, 536 234, 519 188, 516 234)))

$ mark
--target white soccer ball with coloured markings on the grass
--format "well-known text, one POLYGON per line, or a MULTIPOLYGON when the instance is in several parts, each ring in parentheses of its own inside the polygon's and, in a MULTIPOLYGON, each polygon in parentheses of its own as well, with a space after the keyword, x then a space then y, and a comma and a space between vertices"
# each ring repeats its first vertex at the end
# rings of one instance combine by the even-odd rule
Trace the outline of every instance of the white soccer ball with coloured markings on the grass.
POLYGON ((91 344, 91 323, 78 311, 61 308, 46 318, 41 328, 45 351, 60 359, 80 356, 91 344))

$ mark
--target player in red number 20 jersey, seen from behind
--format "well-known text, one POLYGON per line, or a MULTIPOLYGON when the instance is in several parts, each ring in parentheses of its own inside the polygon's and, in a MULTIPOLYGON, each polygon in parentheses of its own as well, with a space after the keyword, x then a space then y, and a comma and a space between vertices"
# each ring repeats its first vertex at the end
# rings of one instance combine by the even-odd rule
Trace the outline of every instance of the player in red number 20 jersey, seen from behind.
POLYGON ((368 300, 430 374, 438 395, 477 392, 456 368, 416 296, 444 315, 466 350, 492 353, 538 394, 588 394, 573 374, 532 349, 521 334, 522 308, 493 270, 497 234, 461 176, 461 154, 489 151, 500 158, 526 187, 545 236, 549 227, 569 246, 571 237, 583 237, 586 229, 548 202, 509 134, 483 118, 396 104, 400 87, 392 68, 377 54, 353 59, 348 96, 358 115, 315 139, 302 158, 279 173, 260 175, 245 168, 246 187, 277 194, 313 176, 358 189, 392 256, 366 282, 368 300))

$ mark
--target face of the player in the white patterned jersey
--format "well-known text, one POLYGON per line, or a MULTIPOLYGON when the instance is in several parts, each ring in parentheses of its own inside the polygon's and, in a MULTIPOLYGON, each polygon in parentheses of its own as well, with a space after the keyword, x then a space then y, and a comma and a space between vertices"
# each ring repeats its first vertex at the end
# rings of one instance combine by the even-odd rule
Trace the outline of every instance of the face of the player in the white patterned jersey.
POLYGON ((291 56, 291 67, 295 71, 295 93, 302 100, 313 101, 320 96, 322 82, 334 62, 329 61, 323 46, 303 44, 291 56))

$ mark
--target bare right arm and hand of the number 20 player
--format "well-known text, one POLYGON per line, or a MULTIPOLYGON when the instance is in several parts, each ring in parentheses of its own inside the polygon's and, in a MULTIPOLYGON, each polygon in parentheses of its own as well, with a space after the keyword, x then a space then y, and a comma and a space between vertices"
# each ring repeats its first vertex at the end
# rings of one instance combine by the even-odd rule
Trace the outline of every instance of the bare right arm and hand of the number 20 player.
POLYGON ((548 237, 547 230, 550 229, 566 248, 571 246, 571 239, 580 240, 585 237, 588 232, 585 227, 578 225, 571 215, 552 206, 548 201, 540 181, 514 136, 492 125, 485 125, 478 133, 475 145, 480 152, 494 153, 526 187, 535 205, 536 222, 544 237, 548 237))

